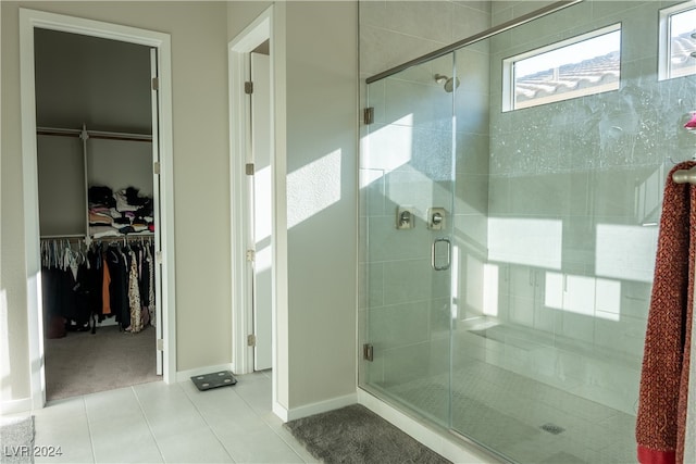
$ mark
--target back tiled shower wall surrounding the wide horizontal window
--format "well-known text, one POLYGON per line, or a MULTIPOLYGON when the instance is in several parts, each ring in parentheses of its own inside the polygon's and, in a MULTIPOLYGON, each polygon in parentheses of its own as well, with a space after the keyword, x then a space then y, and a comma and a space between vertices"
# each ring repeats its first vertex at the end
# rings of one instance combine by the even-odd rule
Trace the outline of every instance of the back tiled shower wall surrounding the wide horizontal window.
POLYGON ((489 258, 500 318, 538 343, 502 364, 626 413, 664 177, 696 152, 682 128, 696 108, 694 76, 657 80, 658 10, 674 3, 585 2, 492 42, 489 258), (618 22, 620 91, 500 111, 504 58, 618 22))

